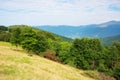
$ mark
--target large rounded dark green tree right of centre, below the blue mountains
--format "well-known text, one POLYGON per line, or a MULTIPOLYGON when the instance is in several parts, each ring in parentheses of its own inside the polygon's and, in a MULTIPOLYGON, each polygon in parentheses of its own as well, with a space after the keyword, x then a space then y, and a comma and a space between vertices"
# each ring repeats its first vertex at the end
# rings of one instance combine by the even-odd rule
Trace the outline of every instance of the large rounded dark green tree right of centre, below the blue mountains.
POLYGON ((102 46, 98 39, 75 39, 69 56, 77 68, 95 69, 101 50, 102 46))

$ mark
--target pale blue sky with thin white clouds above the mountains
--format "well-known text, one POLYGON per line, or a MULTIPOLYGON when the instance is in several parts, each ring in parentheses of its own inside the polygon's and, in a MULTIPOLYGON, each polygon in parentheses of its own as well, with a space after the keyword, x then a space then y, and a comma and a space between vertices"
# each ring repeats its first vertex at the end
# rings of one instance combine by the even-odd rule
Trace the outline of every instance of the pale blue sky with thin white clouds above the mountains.
POLYGON ((0 25, 87 25, 120 21, 120 0, 0 0, 0 25))

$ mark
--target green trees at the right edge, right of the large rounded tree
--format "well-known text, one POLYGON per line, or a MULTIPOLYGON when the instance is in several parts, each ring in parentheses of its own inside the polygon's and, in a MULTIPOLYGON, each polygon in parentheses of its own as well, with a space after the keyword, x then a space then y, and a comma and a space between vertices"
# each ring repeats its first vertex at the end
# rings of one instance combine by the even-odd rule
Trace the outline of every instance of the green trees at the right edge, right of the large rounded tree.
POLYGON ((101 55, 98 70, 116 77, 118 80, 120 70, 120 43, 114 43, 112 46, 105 47, 101 55))

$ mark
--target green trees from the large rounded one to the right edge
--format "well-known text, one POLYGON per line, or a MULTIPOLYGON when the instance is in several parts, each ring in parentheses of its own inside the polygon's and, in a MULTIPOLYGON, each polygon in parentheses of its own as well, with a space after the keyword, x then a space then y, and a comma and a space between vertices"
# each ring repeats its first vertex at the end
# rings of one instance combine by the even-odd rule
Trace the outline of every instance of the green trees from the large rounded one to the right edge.
POLYGON ((75 39, 63 61, 77 68, 95 69, 119 79, 120 43, 103 48, 98 39, 75 39))

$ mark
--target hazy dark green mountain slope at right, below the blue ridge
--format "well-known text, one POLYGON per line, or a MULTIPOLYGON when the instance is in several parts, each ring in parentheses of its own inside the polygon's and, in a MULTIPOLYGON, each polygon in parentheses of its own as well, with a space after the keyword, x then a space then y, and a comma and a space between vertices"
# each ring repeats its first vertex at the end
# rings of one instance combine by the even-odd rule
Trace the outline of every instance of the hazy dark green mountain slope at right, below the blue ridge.
POLYGON ((114 42, 120 42, 120 35, 105 37, 105 38, 101 38, 100 40, 104 46, 110 46, 114 42))

